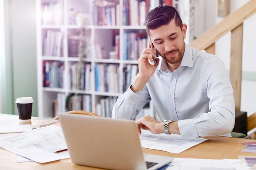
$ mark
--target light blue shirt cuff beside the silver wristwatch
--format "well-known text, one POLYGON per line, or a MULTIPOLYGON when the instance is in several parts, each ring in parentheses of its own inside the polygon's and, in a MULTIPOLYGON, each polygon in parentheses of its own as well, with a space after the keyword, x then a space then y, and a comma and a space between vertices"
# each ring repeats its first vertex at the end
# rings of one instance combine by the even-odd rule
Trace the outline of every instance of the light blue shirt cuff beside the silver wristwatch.
POLYGON ((189 138, 191 136, 199 137, 198 131, 196 130, 196 127, 195 127, 194 119, 179 120, 178 127, 180 130, 180 135, 183 138, 189 138))

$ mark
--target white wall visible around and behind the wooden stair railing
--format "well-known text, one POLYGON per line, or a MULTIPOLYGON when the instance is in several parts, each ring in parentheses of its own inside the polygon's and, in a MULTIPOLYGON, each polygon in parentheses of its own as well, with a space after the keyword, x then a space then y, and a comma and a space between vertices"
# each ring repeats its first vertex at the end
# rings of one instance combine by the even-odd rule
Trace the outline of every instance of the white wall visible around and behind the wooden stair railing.
MULTIPOLYGON (((231 0, 230 12, 236 11, 249 0, 231 0)), ((218 15, 218 0, 196 0, 195 1, 195 36, 199 37, 205 31, 209 30, 215 24, 221 22, 224 18, 218 15)), ((244 21, 243 31, 243 75, 246 72, 254 72, 248 80, 246 76, 242 77, 241 89, 241 111, 247 111, 250 116, 256 112, 256 14, 244 21), (252 80, 254 79, 254 80, 252 80)), ((230 50, 231 50, 231 32, 221 37, 215 42, 215 54, 224 62, 227 70, 230 70, 230 50)))

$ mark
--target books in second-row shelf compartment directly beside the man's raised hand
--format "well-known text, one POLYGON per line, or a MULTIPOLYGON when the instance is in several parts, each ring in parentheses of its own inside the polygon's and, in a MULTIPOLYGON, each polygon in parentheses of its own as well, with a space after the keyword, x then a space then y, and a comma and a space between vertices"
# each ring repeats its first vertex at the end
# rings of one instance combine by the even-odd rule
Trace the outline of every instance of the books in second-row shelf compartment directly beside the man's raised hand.
POLYGON ((125 32, 123 42, 123 60, 138 60, 147 47, 147 33, 125 32))

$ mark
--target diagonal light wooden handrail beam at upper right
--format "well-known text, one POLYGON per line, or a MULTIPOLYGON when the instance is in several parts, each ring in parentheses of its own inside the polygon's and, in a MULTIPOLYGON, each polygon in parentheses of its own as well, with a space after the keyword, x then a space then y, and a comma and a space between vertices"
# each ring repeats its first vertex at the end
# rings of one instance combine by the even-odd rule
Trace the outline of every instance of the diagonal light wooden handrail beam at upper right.
POLYGON ((256 12, 256 0, 250 0, 244 6, 228 15, 220 23, 213 26, 196 40, 190 43, 190 46, 198 50, 204 50, 215 43, 219 38, 233 30, 247 18, 256 12))

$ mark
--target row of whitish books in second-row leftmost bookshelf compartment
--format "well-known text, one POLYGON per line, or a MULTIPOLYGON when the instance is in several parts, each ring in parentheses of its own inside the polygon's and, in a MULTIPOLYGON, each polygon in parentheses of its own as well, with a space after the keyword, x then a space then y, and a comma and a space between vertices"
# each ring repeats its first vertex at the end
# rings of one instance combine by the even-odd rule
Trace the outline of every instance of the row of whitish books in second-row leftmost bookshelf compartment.
POLYGON ((63 32, 47 30, 44 38, 43 56, 63 56, 63 32))

